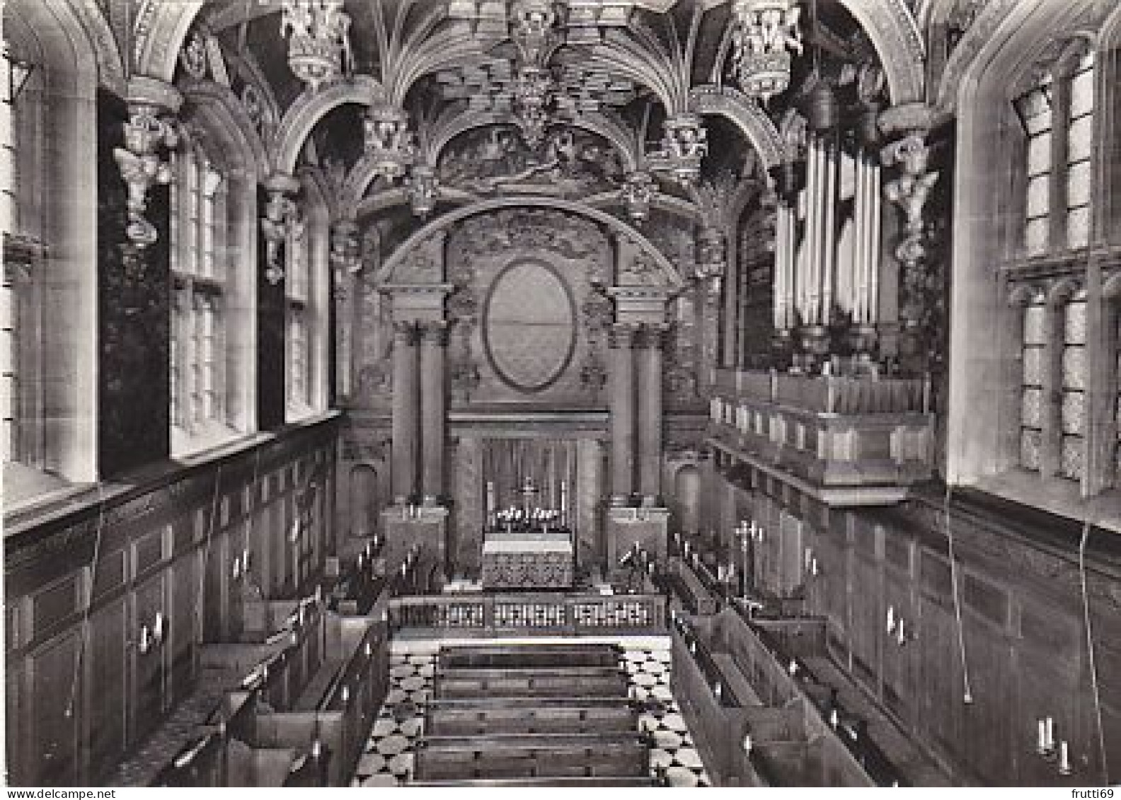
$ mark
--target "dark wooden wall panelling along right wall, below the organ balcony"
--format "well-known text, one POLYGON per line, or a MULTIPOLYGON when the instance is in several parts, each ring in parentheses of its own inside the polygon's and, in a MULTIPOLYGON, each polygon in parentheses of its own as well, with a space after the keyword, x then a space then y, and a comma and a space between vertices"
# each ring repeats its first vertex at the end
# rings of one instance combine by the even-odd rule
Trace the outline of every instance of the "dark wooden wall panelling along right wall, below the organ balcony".
MULTIPOLYGON (((1066 782, 1100 774, 1075 552, 1056 555, 1009 533, 993 555, 992 545, 979 543, 992 533, 963 513, 952 522, 955 582, 937 512, 916 512, 910 522, 895 511, 833 511, 827 528, 803 520, 799 537, 797 521, 776 527, 780 512, 770 497, 754 492, 752 505, 768 537, 756 547, 757 586, 788 585, 790 548, 810 547, 819 574, 806 578, 804 611, 827 620, 833 659, 957 779, 1063 783, 1055 762, 1034 752, 1038 720, 1048 716, 1071 743, 1075 774, 1066 782), (889 606, 904 621, 902 645, 887 630, 889 606)), ((1101 580, 1103 573, 1090 575, 1101 580)), ((1121 752, 1121 614, 1103 586, 1091 599, 1102 726, 1106 748, 1121 752)))

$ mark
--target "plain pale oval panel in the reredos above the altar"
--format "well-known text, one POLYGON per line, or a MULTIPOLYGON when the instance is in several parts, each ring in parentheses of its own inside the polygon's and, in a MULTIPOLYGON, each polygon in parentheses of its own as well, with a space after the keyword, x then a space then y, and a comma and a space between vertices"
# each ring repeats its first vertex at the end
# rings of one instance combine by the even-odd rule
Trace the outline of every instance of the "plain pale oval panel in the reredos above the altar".
POLYGON ((494 373, 524 392, 547 389, 576 346, 576 311, 568 287, 545 261, 520 259, 491 283, 483 343, 494 373))

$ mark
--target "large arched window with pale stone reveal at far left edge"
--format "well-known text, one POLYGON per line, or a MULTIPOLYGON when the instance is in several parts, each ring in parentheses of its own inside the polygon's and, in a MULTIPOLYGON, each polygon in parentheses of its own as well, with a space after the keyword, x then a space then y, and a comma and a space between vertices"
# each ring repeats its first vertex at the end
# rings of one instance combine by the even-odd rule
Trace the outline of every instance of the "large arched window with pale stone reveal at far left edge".
POLYGON ((96 476, 98 71, 65 8, 2 12, 0 453, 15 509, 96 476))

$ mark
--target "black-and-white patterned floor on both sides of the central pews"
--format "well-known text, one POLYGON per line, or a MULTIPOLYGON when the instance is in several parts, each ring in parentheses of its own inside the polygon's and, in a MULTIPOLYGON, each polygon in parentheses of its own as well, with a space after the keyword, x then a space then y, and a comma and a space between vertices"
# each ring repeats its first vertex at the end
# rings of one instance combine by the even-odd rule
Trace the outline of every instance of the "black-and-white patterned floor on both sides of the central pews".
MULTIPOLYGON (((654 735, 650 766, 665 770, 671 787, 707 787, 708 775, 685 719, 669 690, 670 654, 665 649, 627 650, 631 697, 643 704, 639 725, 654 735)), ((389 692, 359 759, 351 785, 398 787, 413 776, 416 743, 432 697, 435 655, 395 653, 389 661, 389 692)))

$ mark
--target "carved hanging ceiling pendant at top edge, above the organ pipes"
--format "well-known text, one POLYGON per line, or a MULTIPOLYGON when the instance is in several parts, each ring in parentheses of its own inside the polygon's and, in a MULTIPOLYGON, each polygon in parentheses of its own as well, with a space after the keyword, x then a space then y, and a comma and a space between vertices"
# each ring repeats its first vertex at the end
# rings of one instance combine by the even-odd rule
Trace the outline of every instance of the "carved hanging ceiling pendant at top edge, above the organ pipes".
POLYGON ((740 87, 767 102, 790 85, 791 52, 800 54, 796 0, 735 0, 735 72, 740 87))

